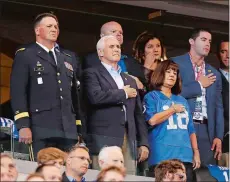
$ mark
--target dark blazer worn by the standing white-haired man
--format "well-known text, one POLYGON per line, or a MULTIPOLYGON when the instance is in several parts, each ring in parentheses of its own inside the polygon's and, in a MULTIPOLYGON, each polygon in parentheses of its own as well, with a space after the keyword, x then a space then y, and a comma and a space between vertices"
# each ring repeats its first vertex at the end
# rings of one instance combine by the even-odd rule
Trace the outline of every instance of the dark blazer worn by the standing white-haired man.
MULTIPOLYGON (((136 88, 136 82, 125 73, 121 73, 124 85, 136 88)), ((83 72, 84 92, 88 101, 87 128, 90 139, 90 152, 98 154, 105 145, 122 146, 127 115, 128 139, 132 146, 148 147, 147 126, 142 114, 139 94, 136 98, 126 99, 123 89, 118 89, 106 68, 100 64, 83 72), (137 140, 137 143, 136 143, 137 140)), ((133 152, 136 152, 133 150, 133 152)), ((134 153, 135 154, 135 153, 134 153)))

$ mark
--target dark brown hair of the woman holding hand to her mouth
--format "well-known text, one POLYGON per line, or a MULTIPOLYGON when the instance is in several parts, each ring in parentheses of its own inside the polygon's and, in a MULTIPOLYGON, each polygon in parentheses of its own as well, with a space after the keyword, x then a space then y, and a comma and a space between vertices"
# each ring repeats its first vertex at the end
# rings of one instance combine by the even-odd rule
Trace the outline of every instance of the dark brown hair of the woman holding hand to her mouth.
POLYGON ((149 40, 152 40, 152 39, 158 39, 160 41, 161 58, 164 59, 164 57, 166 57, 165 48, 164 48, 163 41, 162 41, 161 37, 157 36, 154 33, 144 31, 140 35, 137 36, 137 38, 133 44, 133 57, 136 60, 138 60, 141 64, 144 64, 144 61, 145 61, 144 60, 145 45, 148 43, 149 40))

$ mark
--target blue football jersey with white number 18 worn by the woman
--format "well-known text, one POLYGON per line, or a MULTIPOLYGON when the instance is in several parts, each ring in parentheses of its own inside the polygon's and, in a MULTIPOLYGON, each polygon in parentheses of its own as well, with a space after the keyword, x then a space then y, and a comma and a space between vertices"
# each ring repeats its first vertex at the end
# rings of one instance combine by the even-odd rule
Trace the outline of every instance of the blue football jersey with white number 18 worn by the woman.
POLYGON ((183 162, 192 162, 190 135, 195 133, 195 129, 185 98, 179 95, 168 98, 160 91, 149 92, 143 100, 145 120, 147 122, 155 114, 169 109, 173 103, 184 105, 185 111, 175 113, 161 124, 149 127, 149 165, 174 158, 183 162))

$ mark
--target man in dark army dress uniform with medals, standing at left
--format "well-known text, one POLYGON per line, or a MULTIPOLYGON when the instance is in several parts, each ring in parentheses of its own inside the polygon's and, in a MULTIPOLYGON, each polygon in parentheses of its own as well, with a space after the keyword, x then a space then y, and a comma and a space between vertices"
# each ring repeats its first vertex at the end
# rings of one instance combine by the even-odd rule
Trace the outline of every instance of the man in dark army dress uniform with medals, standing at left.
POLYGON ((35 156, 45 147, 66 150, 77 142, 81 125, 75 55, 56 47, 58 19, 36 17, 36 43, 17 50, 11 74, 11 105, 19 141, 33 141, 35 156))

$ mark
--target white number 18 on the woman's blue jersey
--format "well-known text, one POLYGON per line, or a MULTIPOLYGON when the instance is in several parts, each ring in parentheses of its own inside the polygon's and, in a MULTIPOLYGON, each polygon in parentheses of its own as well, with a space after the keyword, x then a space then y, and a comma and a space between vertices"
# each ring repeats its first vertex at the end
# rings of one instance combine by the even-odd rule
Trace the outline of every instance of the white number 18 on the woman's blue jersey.
MULTIPOLYGON (((163 110, 169 109, 169 106, 165 105, 163 106, 163 110)), ((177 123, 173 120, 173 115, 168 118, 169 124, 167 125, 168 130, 175 130, 177 127, 180 129, 187 130, 189 118, 188 118, 188 112, 185 110, 183 113, 176 113, 176 120, 177 123), (183 124, 182 119, 185 119, 185 124, 183 124)))

